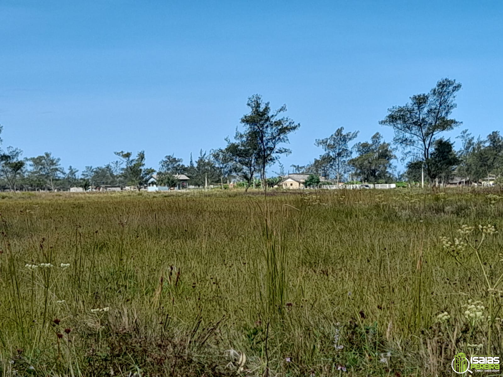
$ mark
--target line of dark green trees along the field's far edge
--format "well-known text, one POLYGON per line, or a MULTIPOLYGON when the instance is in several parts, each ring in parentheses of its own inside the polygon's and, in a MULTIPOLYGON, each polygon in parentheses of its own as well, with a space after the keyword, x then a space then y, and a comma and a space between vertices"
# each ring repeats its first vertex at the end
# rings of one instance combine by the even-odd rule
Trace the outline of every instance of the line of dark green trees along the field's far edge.
MULTIPOLYGON (((443 78, 428 93, 411 96, 405 105, 389 108, 379 124, 393 129, 391 142, 386 142, 377 132, 368 141, 350 145, 359 131, 345 132, 344 127, 340 127, 328 137, 314 141, 322 149, 317 158, 305 165, 290 167, 293 172, 323 176, 336 184, 348 180, 418 182, 422 175, 430 184, 446 183, 454 175, 473 182, 490 175, 501 177, 503 138, 499 131, 491 132, 486 138, 475 138, 465 129, 457 136, 461 141, 459 150, 444 136, 462 124, 451 118, 460 89, 461 84, 456 80, 443 78), (400 174, 395 173, 393 165, 397 151, 401 152, 406 166, 400 174)), ((286 105, 273 110, 260 95, 251 96, 247 107, 249 113, 241 117, 241 126, 236 127, 233 138, 224 139, 225 146, 209 152, 201 150, 195 161, 191 154, 187 165, 182 158, 171 154, 153 169, 145 165, 145 151, 136 154, 117 151, 114 161, 98 167, 86 166, 79 173, 71 165, 64 169, 60 158, 50 152, 22 158, 21 149, 8 147, 0 151, 0 185, 14 191, 68 190, 74 186, 87 190, 97 185, 140 189, 157 171, 158 184, 167 186, 176 185, 179 174, 189 176, 190 184, 195 186, 236 179, 243 182, 246 190, 253 184, 273 186, 287 173, 279 163, 279 171, 267 177, 268 168, 279 162, 281 156, 291 153, 286 145, 300 124, 285 115, 286 105), (257 181, 257 177, 260 180, 257 181)))

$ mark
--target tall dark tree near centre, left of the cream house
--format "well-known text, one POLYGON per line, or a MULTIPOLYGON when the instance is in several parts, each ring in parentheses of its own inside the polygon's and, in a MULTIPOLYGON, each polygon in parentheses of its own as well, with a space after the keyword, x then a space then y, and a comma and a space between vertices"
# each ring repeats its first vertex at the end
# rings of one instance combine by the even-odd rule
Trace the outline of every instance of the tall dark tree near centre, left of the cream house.
POLYGON ((248 98, 246 105, 250 108, 250 112, 241 118, 241 124, 245 127, 245 133, 257 140, 256 159, 261 169, 264 190, 266 190, 266 166, 277 161, 280 155, 291 153, 290 149, 280 147, 280 144, 288 143, 288 135, 296 131, 300 124, 295 124, 288 117, 280 118, 280 115, 286 112, 286 105, 276 111, 271 111, 269 102, 264 103, 260 95, 248 98))

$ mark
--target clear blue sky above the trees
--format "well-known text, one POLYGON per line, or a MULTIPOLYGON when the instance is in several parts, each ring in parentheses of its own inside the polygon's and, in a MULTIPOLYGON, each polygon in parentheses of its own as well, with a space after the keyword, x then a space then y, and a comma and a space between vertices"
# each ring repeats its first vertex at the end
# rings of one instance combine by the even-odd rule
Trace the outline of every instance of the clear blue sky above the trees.
POLYGON ((448 136, 485 136, 503 130, 502 20, 501 1, 0 0, 3 146, 80 170, 117 150, 188 163, 260 93, 301 124, 288 167, 341 126, 391 140, 387 109, 442 77, 463 84, 448 136))

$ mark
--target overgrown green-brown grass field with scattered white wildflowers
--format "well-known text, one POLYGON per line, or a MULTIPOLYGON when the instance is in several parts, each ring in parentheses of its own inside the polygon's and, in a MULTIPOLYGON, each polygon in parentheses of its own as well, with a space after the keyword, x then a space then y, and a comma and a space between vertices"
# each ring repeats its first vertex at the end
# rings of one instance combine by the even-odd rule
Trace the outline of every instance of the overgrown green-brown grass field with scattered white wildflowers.
POLYGON ((17 194, 0 213, 3 376, 433 376, 503 354, 496 189, 17 194))

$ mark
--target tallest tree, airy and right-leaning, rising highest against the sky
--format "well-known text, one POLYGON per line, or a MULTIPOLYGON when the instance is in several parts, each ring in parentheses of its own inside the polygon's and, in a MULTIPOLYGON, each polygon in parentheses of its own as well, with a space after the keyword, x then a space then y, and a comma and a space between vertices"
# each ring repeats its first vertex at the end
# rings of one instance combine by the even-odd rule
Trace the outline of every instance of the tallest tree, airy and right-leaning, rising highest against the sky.
POLYGON ((430 180, 433 180, 433 176, 428 161, 436 137, 461 124, 449 118, 456 108, 454 100, 459 89, 461 84, 456 80, 443 78, 428 94, 412 96, 404 106, 388 109, 386 118, 379 122, 393 128, 394 143, 405 151, 412 151, 411 156, 415 159, 426 162, 430 180))

